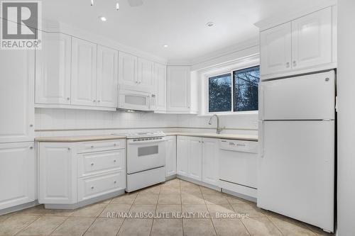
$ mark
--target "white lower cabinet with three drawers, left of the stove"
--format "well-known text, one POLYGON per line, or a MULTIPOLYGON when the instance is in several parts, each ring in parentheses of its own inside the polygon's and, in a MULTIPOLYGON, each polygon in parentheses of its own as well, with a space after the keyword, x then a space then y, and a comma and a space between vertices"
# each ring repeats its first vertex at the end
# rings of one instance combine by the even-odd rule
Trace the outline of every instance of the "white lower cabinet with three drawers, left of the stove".
POLYGON ((82 201, 124 190, 125 142, 40 142, 38 202, 75 208, 82 201))

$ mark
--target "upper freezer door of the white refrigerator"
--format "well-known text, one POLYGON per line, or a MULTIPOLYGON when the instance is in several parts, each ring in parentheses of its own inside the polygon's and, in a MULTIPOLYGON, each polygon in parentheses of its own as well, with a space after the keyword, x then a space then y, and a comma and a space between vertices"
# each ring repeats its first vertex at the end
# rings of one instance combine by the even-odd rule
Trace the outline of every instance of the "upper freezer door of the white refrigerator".
POLYGON ((334 71, 261 82, 260 120, 334 119, 334 71))

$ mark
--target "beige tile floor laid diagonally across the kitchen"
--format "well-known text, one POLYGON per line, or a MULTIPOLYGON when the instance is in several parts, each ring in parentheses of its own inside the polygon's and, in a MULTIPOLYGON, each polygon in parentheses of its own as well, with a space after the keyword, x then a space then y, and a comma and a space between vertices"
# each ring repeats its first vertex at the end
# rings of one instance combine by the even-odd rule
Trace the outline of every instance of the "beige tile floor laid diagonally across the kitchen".
POLYGON ((48 210, 40 205, 1 215, 0 235, 330 234, 317 227, 258 209, 255 203, 241 198, 173 179, 77 210, 48 210), (107 213, 112 212, 122 215, 107 218, 107 213), (154 213, 155 218, 150 218, 154 213), (141 217, 135 218, 136 214, 141 217), (249 217, 218 218, 218 214, 224 214, 224 217, 249 214, 249 217))

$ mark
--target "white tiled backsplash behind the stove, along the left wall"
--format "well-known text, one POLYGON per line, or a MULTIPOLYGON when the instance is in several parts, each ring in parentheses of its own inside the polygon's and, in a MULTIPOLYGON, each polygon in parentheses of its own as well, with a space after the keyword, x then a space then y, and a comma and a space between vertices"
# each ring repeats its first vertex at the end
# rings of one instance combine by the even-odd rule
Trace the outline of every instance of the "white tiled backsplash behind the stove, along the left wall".
POLYGON ((177 123, 173 114, 35 108, 36 136, 122 133, 127 129, 175 127, 177 123), (66 131, 72 129, 77 131, 66 131))

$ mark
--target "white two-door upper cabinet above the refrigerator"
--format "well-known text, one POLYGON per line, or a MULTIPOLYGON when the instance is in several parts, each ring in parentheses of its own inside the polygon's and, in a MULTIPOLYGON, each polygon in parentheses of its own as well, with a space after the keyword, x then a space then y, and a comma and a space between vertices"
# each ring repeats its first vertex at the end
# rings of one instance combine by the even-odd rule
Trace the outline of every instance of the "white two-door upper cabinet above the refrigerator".
POLYGON ((262 79, 336 67, 334 6, 262 30, 262 79))

